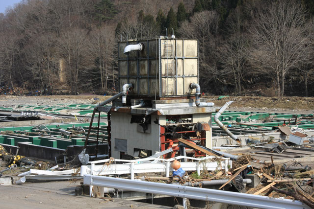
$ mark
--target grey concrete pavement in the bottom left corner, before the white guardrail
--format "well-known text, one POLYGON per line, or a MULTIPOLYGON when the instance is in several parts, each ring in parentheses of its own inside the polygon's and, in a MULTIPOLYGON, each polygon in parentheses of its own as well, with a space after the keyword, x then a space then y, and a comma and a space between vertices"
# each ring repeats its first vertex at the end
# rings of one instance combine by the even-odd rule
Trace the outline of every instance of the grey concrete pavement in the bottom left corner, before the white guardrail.
MULTIPOLYGON (((1 178, 0 178, 1 179, 1 178)), ((60 181, 26 183, 23 185, 0 186, 1 208, 23 209, 171 209, 133 201, 107 201, 89 196, 75 196, 79 182, 60 181), (9 201, 9 200, 14 200, 9 201)))

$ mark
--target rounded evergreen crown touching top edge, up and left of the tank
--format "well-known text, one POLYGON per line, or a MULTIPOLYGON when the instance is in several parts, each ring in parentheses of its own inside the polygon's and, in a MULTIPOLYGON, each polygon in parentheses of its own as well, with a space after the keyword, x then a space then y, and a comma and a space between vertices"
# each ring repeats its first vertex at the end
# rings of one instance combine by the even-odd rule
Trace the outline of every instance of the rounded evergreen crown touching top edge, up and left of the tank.
POLYGON ((101 0, 95 6, 95 19, 99 20, 99 24, 101 22, 106 22, 107 20, 113 19, 114 15, 118 13, 117 9, 111 2, 111 0, 101 0))

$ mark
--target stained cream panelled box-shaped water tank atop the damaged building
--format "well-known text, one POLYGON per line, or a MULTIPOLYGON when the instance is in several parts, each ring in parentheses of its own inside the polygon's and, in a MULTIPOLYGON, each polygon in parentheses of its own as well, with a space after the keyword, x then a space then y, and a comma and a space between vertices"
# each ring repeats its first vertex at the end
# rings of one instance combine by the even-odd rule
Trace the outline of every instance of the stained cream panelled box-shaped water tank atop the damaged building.
POLYGON ((119 43, 119 89, 133 85, 131 97, 194 96, 190 83, 198 83, 198 41, 160 37, 119 43), (138 50, 124 53, 126 46, 138 50))

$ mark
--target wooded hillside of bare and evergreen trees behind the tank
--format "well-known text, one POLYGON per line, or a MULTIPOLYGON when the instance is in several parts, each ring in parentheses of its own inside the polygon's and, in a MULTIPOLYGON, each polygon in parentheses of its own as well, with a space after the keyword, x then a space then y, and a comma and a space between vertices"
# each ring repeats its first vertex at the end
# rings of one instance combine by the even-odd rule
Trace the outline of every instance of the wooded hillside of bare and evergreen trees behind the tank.
POLYGON ((314 96, 313 15, 313 0, 24 0, 0 13, 0 94, 113 91, 117 43, 166 27, 199 40, 206 93, 314 96))

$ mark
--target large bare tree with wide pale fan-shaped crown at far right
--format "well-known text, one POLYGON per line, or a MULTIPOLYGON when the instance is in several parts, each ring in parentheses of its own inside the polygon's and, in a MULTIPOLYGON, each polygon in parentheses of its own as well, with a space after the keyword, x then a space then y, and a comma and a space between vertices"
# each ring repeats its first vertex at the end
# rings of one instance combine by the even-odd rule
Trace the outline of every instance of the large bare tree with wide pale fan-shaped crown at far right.
POLYGON ((278 96, 284 95, 285 77, 308 51, 305 12, 297 1, 278 0, 255 15, 251 27, 252 59, 276 77, 278 96))

